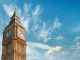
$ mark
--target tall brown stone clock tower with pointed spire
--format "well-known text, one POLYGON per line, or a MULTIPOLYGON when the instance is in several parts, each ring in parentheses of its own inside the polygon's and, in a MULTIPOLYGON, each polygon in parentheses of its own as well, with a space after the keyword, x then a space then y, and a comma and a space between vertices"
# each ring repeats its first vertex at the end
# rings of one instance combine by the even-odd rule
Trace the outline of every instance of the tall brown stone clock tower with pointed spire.
POLYGON ((26 31, 19 20, 14 11, 3 31, 1 60, 26 60, 26 31))

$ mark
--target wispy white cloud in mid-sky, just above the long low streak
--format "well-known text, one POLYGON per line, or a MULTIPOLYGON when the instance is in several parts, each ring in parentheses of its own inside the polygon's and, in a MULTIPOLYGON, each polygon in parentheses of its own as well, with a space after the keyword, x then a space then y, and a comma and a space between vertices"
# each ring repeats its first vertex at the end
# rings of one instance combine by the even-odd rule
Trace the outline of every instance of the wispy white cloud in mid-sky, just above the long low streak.
POLYGON ((47 42, 48 40, 50 40, 50 32, 47 29, 46 23, 43 23, 40 31, 38 32, 37 36, 38 38, 40 38, 41 40, 43 40, 44 42, 47 42))

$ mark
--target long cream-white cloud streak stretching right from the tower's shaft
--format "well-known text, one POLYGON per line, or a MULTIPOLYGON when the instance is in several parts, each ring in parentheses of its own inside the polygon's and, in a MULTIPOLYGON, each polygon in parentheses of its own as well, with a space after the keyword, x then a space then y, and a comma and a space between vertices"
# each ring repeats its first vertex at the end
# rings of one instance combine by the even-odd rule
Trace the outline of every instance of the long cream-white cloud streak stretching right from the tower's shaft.
POLYGON ((43 43, 36 43, 36 42, 27 42, 28 47, 34 47, 34 48, 40 48, 40 49, 46 49, 46 50, 51 50, 51 51, 60 51, 62 49, 61 46, 49 46, 47 44, 43 44, 43 43))

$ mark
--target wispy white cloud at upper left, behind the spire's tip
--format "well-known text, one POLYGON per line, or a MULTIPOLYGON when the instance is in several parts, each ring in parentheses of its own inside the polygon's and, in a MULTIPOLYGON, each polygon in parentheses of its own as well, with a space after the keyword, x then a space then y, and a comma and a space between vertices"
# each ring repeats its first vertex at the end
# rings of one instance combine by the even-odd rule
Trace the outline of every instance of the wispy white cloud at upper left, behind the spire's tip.
POLYGON ((21 10, 16 6, 16 5, 8 5, 8 4, 4 4, 2 5, 2 7, 4 8, 4 11, 6 12, 6 14, 11 17, 16 9, 16 13, 18 16, 21 17, 21 10))

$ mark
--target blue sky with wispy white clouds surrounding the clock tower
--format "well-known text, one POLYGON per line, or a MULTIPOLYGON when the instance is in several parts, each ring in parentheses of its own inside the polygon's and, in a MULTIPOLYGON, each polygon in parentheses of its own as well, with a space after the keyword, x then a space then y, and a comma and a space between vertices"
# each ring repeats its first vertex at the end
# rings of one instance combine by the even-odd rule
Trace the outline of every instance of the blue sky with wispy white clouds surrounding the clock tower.
POLYGON ((0 56, 15 8, 27 31, 27 60, 80 59, 79 0, 0 0, 0 56))

